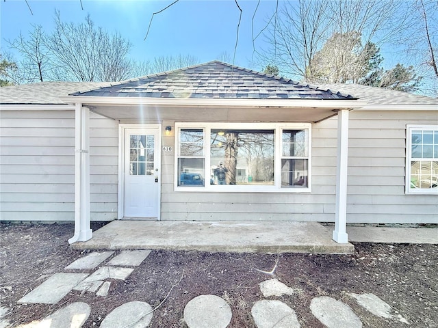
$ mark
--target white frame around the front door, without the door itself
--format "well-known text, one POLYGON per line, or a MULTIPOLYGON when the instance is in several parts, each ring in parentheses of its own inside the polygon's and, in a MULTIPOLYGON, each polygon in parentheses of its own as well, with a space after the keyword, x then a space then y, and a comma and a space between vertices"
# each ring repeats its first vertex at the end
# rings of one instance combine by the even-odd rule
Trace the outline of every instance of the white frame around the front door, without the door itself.
POLYGON ((162 124, 118 124, 118 205, 117 219, 125 216, 125 132, 129 129, 145 129, 158 131, 156 163, 158 167, 158 190, 157 190, 157 220, 161 219, 162 202, 162 124))

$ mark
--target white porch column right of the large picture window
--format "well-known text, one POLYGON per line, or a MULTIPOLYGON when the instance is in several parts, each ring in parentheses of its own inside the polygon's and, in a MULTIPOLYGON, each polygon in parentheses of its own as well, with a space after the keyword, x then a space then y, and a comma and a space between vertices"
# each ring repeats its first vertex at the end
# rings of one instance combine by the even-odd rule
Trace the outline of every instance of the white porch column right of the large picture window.
POLYGON ((336 206, 333 240, 348 243, 347 227, 348 109, 337 113, 336 206))

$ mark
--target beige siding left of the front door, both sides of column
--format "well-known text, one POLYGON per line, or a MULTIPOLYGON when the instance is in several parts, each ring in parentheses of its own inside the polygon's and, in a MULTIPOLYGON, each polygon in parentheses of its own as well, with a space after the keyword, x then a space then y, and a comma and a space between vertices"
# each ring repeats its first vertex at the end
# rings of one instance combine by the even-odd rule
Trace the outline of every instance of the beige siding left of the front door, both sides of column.
MULTIPOLYGON (((73 221, 75 112, 1 111, 0 219, 73 221)), ((117 217, 118 124, 90 115, 91 219, 117 217)))

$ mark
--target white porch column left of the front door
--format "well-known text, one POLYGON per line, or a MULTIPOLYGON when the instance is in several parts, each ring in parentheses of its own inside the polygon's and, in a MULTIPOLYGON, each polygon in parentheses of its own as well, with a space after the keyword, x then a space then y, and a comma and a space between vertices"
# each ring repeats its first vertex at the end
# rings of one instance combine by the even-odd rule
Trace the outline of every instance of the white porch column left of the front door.
POLYGON ((90 110, 75 107, 75 235, 68 243, 88 241, 90 228, 90 110))

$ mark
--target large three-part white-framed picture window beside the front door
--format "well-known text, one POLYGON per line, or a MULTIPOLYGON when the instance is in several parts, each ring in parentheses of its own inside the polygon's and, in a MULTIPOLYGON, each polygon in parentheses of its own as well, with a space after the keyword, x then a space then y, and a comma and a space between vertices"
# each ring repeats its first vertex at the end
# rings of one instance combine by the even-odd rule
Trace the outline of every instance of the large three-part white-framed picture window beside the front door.
POLYGON ((310 191, 311 124, 196 125, 175 124, 177 190, 310 191))

